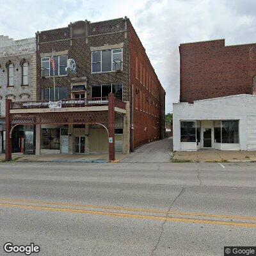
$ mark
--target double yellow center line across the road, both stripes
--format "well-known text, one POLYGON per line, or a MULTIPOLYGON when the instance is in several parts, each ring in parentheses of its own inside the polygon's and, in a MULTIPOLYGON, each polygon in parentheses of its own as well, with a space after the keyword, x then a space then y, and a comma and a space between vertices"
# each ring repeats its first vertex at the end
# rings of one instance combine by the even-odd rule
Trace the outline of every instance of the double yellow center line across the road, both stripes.
POLYGON ((10 198, 0 198, 0 207, 11 207, 35 211, 92 214, 98 216, 100 215, 116 218, 133 218, 140 220, 256 228, 255 216, 231 216, 176 211, 167 212, 159 211, 157 209, 138 209, 115 206, 68 204, 61 202, 42 202, 38 200, 22 200, 10 198), (166 216, 167 213, 168 215, 166 216))

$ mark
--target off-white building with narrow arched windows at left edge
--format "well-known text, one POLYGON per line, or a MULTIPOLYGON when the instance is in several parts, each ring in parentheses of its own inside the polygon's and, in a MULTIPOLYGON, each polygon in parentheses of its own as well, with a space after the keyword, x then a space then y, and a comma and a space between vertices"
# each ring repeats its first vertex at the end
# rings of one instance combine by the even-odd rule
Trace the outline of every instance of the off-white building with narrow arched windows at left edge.
MULTIPOLYGON (((0 153, 4 152, 5 100, 36 99, 36 40, 0 36, 0 153)), ((13 152, 33 152, 33 127, 13 130, 13 152)))

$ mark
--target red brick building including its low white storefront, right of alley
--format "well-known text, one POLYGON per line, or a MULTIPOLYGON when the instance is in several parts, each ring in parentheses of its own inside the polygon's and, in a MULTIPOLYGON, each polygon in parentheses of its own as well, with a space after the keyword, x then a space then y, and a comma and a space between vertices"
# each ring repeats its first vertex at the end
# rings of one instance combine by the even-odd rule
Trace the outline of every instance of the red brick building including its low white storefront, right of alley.
POLYGON ((256 44, 180 44, 174 150, 256 150, 256 44))

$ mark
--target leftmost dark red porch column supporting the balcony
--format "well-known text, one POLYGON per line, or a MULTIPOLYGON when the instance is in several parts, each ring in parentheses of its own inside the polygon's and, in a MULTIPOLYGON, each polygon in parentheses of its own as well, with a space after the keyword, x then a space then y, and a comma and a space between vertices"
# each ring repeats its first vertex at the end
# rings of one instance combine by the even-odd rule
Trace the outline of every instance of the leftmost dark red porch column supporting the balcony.
POLYGON ((10 114, 12 100, 5 101, 5 161, 12 160, 12 139, 10 131, 12 129, 12 115, 10 114))

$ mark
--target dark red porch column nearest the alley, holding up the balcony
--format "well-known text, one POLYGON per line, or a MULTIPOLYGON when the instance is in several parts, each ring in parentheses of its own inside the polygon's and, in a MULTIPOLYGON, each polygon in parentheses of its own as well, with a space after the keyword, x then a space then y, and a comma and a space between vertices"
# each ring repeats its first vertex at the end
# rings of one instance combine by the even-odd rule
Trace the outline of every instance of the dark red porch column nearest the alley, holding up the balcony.
POLYGON ((108 95, 108 132, 109 161, 115 161, 115 96, 113 93, 108 95))

